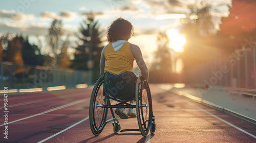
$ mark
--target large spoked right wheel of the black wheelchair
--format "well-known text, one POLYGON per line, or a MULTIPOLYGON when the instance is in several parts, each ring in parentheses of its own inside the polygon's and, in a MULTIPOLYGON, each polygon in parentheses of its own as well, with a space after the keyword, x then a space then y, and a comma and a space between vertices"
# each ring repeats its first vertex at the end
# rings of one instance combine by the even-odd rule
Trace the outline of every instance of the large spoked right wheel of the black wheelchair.
POLYGON ((152 125, 152 99, 148 83, 139 80, 136 83, 137 120, 141 134, 146 136, 152 125))

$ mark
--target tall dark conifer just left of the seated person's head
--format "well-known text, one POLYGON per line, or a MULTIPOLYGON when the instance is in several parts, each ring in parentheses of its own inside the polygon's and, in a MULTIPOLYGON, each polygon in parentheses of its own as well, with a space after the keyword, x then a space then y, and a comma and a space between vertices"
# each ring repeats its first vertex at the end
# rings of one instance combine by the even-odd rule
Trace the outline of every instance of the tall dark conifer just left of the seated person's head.
POLYGON ((93 70, 95 72, 94 80, 99 77, 99 62, 100 55, 103 49, 100 40, 100 32, 98 27, 98 21, 94 21, 95 14, 90 12, 87 14, 87 20, 83 20, 81 23, 80 33, 77 37, 81 41, 81 44, 77 43, 77 47, 74 47, 75 54, 74 60, 72 60, 71 68, 88 70, 88 61, 90 60, 90 54, 92 54, 92 60, 94 62, 93 70), (92 37, 90 37, 90 30, 92 37), (92 51, 90 51, 90 41, 92 40, 92 51))

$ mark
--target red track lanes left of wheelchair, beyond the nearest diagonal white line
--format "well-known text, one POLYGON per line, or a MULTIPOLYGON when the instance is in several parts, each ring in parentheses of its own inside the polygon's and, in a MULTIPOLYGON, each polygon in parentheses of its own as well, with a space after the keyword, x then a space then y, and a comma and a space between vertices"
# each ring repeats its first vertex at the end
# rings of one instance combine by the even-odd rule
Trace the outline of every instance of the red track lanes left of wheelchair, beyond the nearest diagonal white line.
MULTIPOLYGON (((49 101, 49 102, 41 102, 39 105, 38 103, 34 103, 34 104, 28 104, 28 105, 21 105, 17 107, 11 107, 10 109, 8 109, 10 111, 10 114, 8 115, 8 119, 9 119, 8 129, 9 129, 9 137, 10 137, 8 139, 8 142, 35 142, 36 140, 38 140, 38 138, 37 137, 34 138, 33 136, 40 134, 39 138, 44 139, 48 137, 49 134, 51 135, 53 133, 59 132, 59 130, 62 130, 63 128, 67 128, 71 126, 73 123, 76 123, 77 121, 80 120, 80 118, 84 118, 85 114, 89 115, 88 108, 89 108, 91 93, 85 92, 88 90, 91 92, 91 89, 89 88, 85 90, 81 89, 79 90, 79 92, 76 92, 75 94, 73 92, 69 93, 69 91, 68 92, 54 91, 53 94, 56 97, 59 97, 59 99, 56 99, 54 101, 49 101), (61 96, 63 94, 68 95, 67 93, 69 94, 68 98, 67 96, 61 96), (75 104, 72 105, 72 103, 75 103, 75 104), (70 105, 70 106, 67 106, 67 105, 70 105), (61 106, 63 108, 58 108, 61 106), (56 110, 53 110, 54 108, 56 110), (29 110, 24 110, 24 109, 29 109, 29 110), (46 112, 47 110, 49 112, 46 112), (40 113, 41 111, 42 113, 40 113), (16 114, 17 112, 19 113, 19 115, 16 114), (46 113, 48 113, 48 115, 46 115, 46 113), (51 114, 49 115, 49 113, 51 114), (20 120, 22 118, 24 118, 24 120, 20 120), (20 121, 11 123, 16 119, 20 121), (49 128, 49 127, 53 127, 53 128, 49 128), (15 133, 11 131, 15 131, 15 133), (29 139, 30 141, 26 141, 28 138, 30 138, 29 139)), ((26 95, 23 95, 23 96, 26 96, 26 95)), ((29 96, 31 95, 29 94, 29 96)), ((46 98, 49 98, 49 96, 46 96, 46 98)), ((25 98, 25 99, 27 100, 28 98, 25 98)), ((24 101, 20 100, 20 102, 23 103, 24 101)), ((1 121, 3 120, 4 120, 3 116, 1 116, 1 121)), ((1 129, 2 128, 3 127, 1 127, 1 129)))

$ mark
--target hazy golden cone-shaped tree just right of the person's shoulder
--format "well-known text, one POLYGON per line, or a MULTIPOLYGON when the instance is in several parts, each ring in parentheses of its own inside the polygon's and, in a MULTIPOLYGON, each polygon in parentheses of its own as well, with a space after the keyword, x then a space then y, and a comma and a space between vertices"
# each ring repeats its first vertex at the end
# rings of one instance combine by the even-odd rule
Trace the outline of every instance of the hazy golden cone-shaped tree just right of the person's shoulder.
POLYGON ((165 32, 159 32, 157 35, 157 51, 155 52, 154 63, 150 68, 150 82, 170 82, 172 75, 172 56, 169 39, 165 32))

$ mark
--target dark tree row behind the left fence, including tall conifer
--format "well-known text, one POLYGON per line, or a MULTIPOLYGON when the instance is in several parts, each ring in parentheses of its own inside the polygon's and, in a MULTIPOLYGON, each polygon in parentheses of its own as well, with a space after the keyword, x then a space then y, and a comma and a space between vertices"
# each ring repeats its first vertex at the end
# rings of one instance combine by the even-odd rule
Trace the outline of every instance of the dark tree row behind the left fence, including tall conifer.
MULTIPOLYGON (((76 34, 81 42, 77 41, 74 59, 70 60, 67 49, 69 47, 69 36, 63 35, 62 21, 53 19, 46 36, 47 45, 50 50, 46 54, 41 53, 41 43, 30 44, 28 36, 16 34, 4 34, 0 37, 0 61, 8 61, 15 64, 27 66, 52 66, 53 68, 73 68, 88 70, 88 61, 92 54, 93 67, 95 71, 94 80, 99 77, 100 54, 103 49, 100 40, 98 21, 94 21, 94 13, 90 12, 88 18, 83 20, 79 33, 76 34), (92 37, 90 37, 90 29, 92 37), (66 39, 65 39, 66 38, 66 39), (90 40, 92 41, 92 51, 90 51, 90 40)), ((22 71, 20 71, 22 72, 22 71)))

